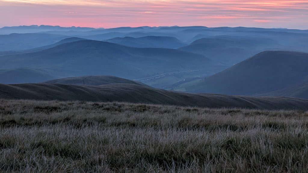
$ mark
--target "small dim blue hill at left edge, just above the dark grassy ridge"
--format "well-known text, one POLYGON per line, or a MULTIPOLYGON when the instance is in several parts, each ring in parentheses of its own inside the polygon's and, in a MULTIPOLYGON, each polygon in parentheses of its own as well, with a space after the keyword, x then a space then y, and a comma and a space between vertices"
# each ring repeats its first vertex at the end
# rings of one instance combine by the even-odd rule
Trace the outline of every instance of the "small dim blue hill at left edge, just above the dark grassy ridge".
POLYGON ((57 77, 43 69, 0 69, 0 83, 4 84, 37 83, 54 78, 57 77))

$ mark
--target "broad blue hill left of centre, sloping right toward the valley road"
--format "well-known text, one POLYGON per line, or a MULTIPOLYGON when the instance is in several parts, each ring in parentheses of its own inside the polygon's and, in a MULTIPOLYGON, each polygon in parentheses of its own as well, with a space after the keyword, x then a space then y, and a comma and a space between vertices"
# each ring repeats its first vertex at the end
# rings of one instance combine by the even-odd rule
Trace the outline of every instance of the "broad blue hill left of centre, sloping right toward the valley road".
POLYGON ((50 49, 0 58, 0 68, 48 68, 67 74, 114 75, 136 79, 166 72, 225 68, 203 55, 163 48, 133 48, 82 40, 50 49), (189 58, 188 58, 189 57, 189 58))

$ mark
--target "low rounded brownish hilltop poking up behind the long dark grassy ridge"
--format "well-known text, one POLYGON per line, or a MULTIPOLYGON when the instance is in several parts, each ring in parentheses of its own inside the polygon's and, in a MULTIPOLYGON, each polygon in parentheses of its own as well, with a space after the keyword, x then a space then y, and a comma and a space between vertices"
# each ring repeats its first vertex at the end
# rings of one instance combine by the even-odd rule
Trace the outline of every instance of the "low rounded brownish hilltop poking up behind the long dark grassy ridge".
MULTIPOLYGON (((57 83, 57 84, 72 84, 72 85, 106 85, 106 84, 115 84, 115 83, 126 83, 126 84, 136 84, 144 85, 141 82, 136 82, 124 78, 118 78, 115 76, 79 76, 79 77, 70 77, 62 79, 54 79, 41 83, 57 83)), ((146 85, 144 85, 146 86, 146 85)))

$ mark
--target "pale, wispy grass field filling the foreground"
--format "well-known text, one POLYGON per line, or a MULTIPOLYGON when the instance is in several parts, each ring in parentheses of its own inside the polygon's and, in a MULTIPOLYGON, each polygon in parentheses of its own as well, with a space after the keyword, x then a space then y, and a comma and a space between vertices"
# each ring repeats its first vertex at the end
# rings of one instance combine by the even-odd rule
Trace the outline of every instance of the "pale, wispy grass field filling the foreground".
POLYGON ((308 172, 306 111, 0 103, 0 172, 308 172))

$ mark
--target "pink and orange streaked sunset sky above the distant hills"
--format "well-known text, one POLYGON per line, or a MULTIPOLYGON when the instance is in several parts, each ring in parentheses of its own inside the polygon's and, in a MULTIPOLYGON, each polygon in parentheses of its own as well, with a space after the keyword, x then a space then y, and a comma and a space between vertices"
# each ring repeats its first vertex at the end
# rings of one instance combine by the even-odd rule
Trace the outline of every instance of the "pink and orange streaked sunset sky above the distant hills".
POLYGON ((0 27, 19 25, 308 29, 308 0, 0 0, 0 27))

